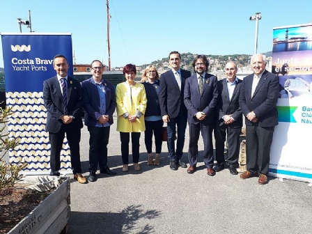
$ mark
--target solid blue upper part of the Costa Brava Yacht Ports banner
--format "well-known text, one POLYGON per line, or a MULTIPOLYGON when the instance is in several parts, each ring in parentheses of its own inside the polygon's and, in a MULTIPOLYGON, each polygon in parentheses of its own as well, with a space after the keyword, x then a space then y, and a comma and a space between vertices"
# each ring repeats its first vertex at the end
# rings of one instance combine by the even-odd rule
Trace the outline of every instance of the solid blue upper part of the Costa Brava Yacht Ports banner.
POLYGON ((41 92, 45 79, 54 77, 53 58, 68 59, 72 77, 71 35, 1 34, 6 92, 41 92))

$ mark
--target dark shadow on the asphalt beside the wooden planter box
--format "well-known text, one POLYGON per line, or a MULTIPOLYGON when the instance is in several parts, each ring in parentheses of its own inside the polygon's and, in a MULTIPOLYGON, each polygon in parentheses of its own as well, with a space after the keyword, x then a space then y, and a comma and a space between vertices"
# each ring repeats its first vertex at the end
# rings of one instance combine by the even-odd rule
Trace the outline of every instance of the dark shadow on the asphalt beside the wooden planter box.
POLYGON ((161 215, 157 210, 143 210, 141 205, 129 205, 120 213, 72 212, 68 221, 68 234, 148 234, 155 233, 154 227, 146 224, 137 228, 142 219, 155 219, 161 215))

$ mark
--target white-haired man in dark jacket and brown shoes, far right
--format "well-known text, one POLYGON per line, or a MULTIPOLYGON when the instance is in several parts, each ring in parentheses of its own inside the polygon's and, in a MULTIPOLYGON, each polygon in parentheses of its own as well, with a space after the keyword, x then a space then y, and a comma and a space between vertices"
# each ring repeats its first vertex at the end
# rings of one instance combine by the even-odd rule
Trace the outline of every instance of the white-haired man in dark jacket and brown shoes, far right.
POLYGON ((240 178, 259 173, 258 183, 267 183, 270 148, 274 127, 278 125, 276 103, 279 98, 279 77, 265 70, 263 54, 251 58, 252 75, 244 78, 240 89, 240 109, 246 116, 247 171, 240 178))

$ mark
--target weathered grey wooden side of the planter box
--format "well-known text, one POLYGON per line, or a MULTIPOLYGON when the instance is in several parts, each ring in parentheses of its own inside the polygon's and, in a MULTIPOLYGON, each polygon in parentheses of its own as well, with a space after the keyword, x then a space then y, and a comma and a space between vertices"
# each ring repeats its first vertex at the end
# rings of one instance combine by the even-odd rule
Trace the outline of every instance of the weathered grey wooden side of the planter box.
POLYGON ((70 180, 66 178, 9 233, 66 233, 68 219, 70 219, 70 180))

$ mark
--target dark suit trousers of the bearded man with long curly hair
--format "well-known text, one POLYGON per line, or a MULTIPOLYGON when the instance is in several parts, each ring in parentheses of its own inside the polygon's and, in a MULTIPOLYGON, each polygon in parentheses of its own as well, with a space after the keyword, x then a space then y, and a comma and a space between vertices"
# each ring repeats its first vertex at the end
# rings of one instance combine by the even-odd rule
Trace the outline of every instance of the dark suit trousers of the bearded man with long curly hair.
POLYGON ((203 162, 207 168, 213 166, 212 126, 202 123, 189 123, 189 165, 196 166, 198 161, 199 134, 203 137, 203 162))

